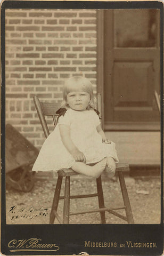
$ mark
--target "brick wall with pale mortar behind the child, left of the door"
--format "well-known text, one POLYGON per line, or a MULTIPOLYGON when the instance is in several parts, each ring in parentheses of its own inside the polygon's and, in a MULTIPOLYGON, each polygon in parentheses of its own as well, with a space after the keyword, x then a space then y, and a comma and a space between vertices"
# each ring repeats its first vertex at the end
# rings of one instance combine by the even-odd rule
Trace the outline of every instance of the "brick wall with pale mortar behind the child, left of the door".
POLYGON ((96 91, 96 10, 6 10, 6 123, 37 148, 44 135, 33 96, 61 102, 72 75, 96 91))

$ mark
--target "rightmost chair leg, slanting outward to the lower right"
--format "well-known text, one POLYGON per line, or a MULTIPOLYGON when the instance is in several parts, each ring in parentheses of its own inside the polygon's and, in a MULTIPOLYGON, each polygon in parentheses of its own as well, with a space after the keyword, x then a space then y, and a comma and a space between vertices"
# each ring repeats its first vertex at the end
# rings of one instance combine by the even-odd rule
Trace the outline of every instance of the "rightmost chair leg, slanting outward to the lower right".
POLYGON ((129 201, 129 197, 128 197, 126 183, 124 180, 124 175, 121 171, 118 172, 118 175, 119 175, 120 187, 121 187, 121 192, 122 192, 122 198, 124 200, 124 205, 125 205, 127 221, 129 224, 133 224, 134 223, 133 214, 132 214, 132 209, 130 206, 130 201, 129 201))

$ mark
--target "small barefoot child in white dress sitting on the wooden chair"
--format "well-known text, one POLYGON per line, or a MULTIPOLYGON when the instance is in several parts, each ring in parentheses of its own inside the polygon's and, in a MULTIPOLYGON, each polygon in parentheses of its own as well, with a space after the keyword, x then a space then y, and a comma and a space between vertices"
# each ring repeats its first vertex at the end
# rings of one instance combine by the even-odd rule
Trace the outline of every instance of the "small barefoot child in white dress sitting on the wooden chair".
POLYGON ((105 137, 91 82, 74 76, 63 87, 59 122, 45 140, 32 171, 72 170, 98 178, 105 169, 112 177, 118 162, 115 144, 105 137))

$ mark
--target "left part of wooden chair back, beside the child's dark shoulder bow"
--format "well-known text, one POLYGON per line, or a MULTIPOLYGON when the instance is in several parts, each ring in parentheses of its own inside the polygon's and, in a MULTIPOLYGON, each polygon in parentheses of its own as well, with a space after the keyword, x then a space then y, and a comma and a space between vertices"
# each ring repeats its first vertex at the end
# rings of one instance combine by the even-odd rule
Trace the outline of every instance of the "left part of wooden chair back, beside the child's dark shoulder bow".
POLYGON ((50 103, 50 102, 43 102, 40 101, 37 95, 34 96, 34 104, 37 110, 37 114, 40 120, 40 124, 42 125, 42 129, 44 131, 44 135, 47 138, 50 134, 50 131, 47 126, 47 122, 45 116, 52 116, 54 126, 57 124, 57 117, 56 111, 60 108, 60 103, 50 103))

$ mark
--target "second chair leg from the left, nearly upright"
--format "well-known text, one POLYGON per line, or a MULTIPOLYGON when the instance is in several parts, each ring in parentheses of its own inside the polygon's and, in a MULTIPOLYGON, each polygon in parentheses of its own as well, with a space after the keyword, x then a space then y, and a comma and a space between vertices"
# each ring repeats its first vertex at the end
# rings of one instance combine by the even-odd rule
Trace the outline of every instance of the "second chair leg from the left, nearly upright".
POLYGON ((67 176, 65 177, 63 224, 69 223, 69 206, 70 206, 70 176, 67 176))

